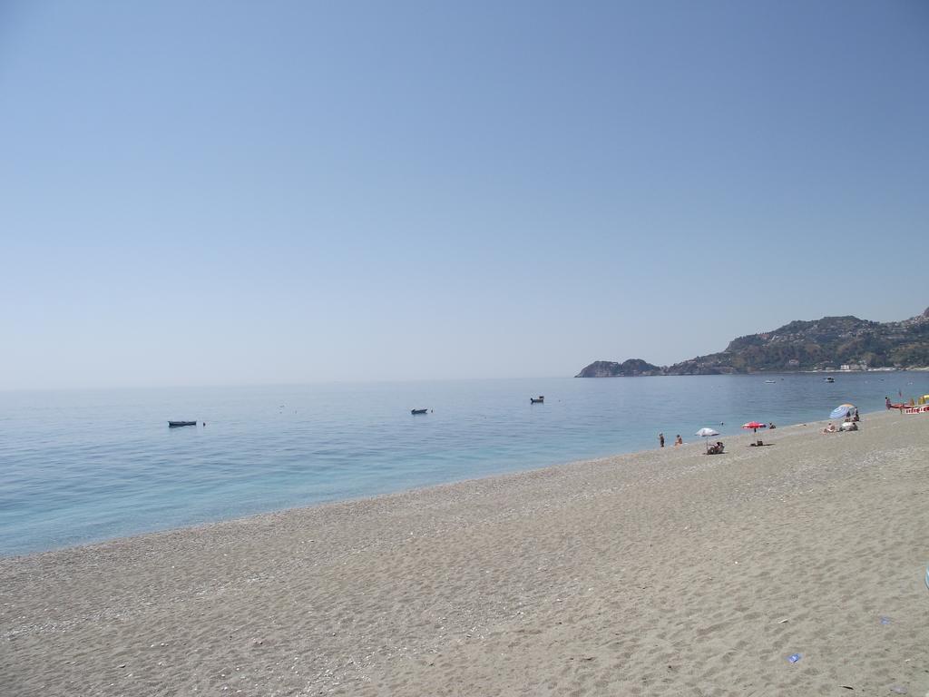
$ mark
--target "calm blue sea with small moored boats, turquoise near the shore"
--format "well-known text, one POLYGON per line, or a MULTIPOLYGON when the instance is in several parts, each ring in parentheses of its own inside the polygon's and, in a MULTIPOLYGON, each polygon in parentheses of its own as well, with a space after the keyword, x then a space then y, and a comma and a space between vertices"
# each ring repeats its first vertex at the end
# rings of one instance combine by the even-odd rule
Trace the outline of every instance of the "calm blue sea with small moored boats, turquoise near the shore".
MULTIPOLYGON (((0 555, 862 414, 927 373, 0 392, 0 555), (530 395, 545 395, 530 404, 530 395), (429 408, 413 416, 412 408, 429 408), (206 427, 167 427, 197 419, 206 427)), ((867 427, 867 424, 865 424, 867 427)))

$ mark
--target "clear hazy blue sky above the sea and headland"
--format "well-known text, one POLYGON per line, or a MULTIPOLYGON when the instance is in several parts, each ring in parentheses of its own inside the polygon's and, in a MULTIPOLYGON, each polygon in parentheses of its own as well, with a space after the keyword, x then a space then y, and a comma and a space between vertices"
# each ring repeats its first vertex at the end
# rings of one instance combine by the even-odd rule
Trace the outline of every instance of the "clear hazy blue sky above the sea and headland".
POLYGON ((924 2, 0 0, 0 388, 677 362, 927 224, 924 2))

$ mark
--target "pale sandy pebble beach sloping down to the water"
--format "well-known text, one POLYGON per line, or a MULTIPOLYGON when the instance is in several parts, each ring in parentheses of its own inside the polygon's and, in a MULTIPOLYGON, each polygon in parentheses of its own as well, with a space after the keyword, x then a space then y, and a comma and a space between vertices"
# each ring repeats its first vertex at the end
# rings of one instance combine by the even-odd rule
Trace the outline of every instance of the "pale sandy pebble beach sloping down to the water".
POLYGON ((922 697, 929 414, 824 425, 0 559, 0 695, 922 697))

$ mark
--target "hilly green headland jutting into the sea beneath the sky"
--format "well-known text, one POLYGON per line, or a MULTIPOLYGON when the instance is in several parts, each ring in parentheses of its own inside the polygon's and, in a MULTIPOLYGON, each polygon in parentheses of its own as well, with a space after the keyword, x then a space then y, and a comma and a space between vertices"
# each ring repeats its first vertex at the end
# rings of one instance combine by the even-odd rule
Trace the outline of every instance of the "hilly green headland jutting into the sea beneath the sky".
POLYGON ((763 334, 739 336, 726 350, 670 366, 642 359, 595 361, 575 377, 729 375, 756 372, 866 370, 929 366, 929 308, 902 322, 851 315, 795 321, 763 334))

